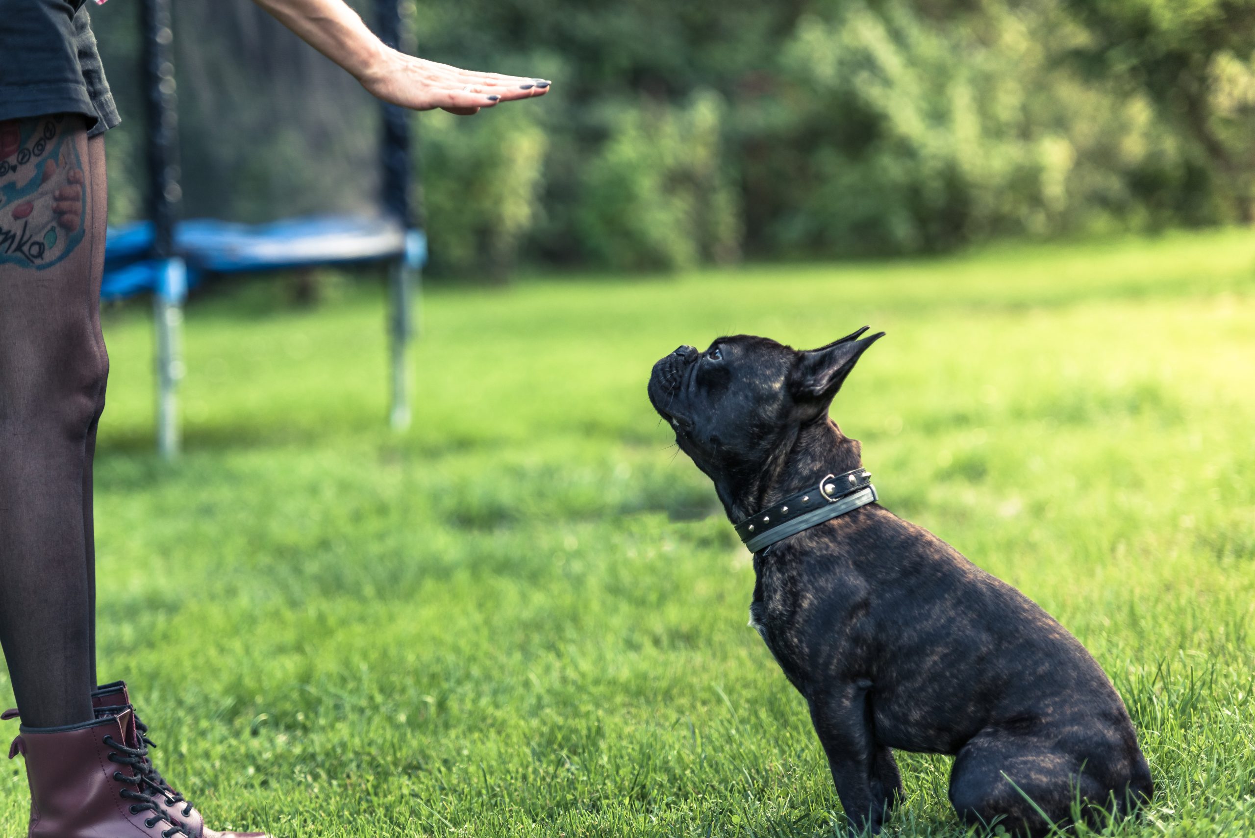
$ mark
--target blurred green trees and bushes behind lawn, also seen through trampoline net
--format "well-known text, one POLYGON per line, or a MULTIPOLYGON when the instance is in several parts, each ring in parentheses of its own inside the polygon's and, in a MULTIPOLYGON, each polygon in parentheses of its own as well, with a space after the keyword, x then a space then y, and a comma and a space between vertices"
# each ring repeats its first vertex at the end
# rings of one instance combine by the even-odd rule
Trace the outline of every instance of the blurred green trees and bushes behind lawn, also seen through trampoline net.
MULTIPOLYGON (((114 221, 142 213, 129 5, 93 19, 128 118, 109 137, 114 221)), ((427 58, 555 82, 543 102, 418 119, 438 273, 899 256, 1251 220, 1251 0, 412 13, 427 58)), ((373 104, 286 35, 246 0, 178 4, 184 215, 373 202, 373 104)))

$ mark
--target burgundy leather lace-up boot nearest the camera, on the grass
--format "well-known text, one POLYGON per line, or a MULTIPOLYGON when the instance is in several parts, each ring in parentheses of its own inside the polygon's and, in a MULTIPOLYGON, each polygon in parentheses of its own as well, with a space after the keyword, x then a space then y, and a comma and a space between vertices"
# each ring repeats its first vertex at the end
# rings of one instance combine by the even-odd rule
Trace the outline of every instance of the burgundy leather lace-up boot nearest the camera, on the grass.
POLYGON ((24 726, 9 759, 18 754, 30 784, 29 838, 192 834, 144 793, 147 750, 129 710, 65 728, 24 726))

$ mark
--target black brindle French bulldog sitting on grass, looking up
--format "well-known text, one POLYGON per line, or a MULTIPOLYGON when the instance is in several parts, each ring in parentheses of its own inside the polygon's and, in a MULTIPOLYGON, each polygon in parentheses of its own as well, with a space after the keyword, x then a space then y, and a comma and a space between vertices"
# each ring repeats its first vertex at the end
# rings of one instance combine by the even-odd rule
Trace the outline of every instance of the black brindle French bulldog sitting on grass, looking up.
MULTIPOLYGON (((865 331, 809 351, 720 337, 654 365, 650 401, 748 544, 756 522, 767 537, 764 511, 832 502, 843 482, 833 475, 865 487, 858 442, 828 418, 858 356, 884 336, 860 340, 865 331), (822 497, 807 492, 820 488, 822 497)), ((968 824, 1040 835, 1048 820, 1069 823, 1077 802, 1091 823, 1099 810, 1123 815, 1148 802, 1128 711, 1081 642, 1019 591, 870 502, 873 492, 756 552, 749 606, 809 705, 851 824, 878 832, 901 797, 894 748, 955 755, 950 803, 968 824)))

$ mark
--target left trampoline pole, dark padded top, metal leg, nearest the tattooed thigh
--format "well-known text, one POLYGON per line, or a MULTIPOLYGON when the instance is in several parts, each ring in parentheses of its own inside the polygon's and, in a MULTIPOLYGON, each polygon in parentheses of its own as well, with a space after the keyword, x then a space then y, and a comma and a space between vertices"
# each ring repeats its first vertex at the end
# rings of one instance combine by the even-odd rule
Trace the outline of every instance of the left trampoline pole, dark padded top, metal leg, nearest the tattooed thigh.
POLYGON ((158 272, 153 296, 157 334, 157 450, 172 459, 178 454, 177 386, 183 376, 179 336, 187 271, 174 252, 174 211, 178 186, 178 112, 174 94, 174 61, 171 0, 141 3, 148 144, 148 217, 153 225, 152 258, 158 272))

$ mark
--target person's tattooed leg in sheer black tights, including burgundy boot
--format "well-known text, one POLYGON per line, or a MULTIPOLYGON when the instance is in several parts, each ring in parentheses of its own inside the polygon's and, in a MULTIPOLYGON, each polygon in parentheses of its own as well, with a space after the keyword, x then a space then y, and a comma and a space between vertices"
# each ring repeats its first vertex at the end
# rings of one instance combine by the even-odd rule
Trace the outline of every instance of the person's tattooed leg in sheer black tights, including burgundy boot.
POLYGON ((30 834, 266 838, 205 828, 149 760, 125 686, 95 685, 104 142, 79 117, 0 123, 0 642, 38 812, 30 834))

